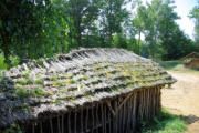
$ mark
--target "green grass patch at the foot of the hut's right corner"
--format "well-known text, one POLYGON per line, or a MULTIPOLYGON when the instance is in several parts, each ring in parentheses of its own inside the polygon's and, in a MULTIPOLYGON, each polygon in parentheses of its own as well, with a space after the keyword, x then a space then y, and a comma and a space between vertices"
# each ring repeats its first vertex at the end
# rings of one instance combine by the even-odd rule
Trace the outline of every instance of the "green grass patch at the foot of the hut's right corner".
POLYGON ((182 117, 170 114, 164 109, 153 121, 142 122, 142 133, 184 133, 186 129, 182 117))

